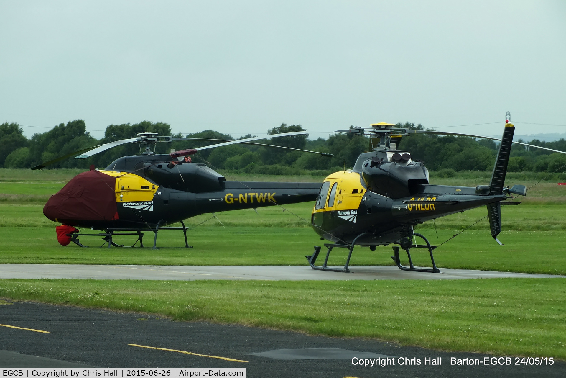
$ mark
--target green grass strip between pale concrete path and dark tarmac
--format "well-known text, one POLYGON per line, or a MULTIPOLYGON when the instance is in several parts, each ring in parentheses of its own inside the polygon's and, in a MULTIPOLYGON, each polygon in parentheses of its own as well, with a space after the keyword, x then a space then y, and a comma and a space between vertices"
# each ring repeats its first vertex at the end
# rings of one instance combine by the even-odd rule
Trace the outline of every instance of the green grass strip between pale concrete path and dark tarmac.
POLYGON ((566 280, 2 280, 0 296, 402 345, 566 359, 566 280))

